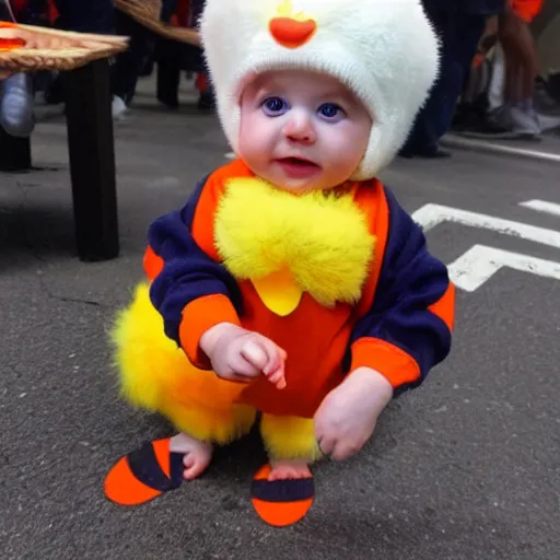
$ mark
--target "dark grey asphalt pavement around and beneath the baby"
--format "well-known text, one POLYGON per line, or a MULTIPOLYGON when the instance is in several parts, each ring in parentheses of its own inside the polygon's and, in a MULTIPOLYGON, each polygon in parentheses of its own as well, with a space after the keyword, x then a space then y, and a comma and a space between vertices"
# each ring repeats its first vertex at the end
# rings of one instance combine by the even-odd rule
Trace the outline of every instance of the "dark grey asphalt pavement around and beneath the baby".
POLYGON ((458 291, 450 359, 392 404, 359 456, 316 466, 307 517, 273 529, 248 500, 264 460, 257 438, 144 506, 103 495, 114 460, 172 433, 119 399, 108 325, 142 276, 150 221, 182 205, 228 151, 213 116, 168 113, 145 86, 116 144, 115 260, 75 257, 61 116, 37 126, 39 170, 0 175, 2 560, 560 558, 560 215, 520 206, 560 205, 560 164, 455 149, 383 173, 410 212, 438 205, 418 215, 436 214, 431 249, 457 264, 459 280, 495 273, 458 291), (465 262, 474 246, 508 258, 487 250, 465 262))

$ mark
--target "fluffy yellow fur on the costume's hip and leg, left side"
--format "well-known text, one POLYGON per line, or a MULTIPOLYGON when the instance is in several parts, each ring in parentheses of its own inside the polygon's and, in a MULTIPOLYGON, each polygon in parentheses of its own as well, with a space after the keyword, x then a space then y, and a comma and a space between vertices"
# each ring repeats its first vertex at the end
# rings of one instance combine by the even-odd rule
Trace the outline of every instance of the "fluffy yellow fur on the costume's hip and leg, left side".
POLYGON ((140 284, 110 332, 124 398, 167 417, 194 438, 229 443, 250 430, 255 410, 234 405, 243 385, 195 368, 163 330, 163 319, 140 284))

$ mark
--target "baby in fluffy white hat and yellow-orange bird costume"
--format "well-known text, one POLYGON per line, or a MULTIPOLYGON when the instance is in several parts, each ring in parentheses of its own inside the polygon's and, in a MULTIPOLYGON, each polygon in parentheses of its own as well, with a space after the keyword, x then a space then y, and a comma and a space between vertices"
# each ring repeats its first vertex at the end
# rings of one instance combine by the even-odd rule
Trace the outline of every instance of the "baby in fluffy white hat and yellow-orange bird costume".
POLYGON ((259 412, 253 503, 288 525, 310 465, 360 451, 450 351, 446 268, 375 178, 438 44, 420 0, 208 0, 200 28, 238 159, 150 228, 149 283, 114 338, 125 396, 179 433, 121 458, 105 491, 138 504, 197 478, 259 412))

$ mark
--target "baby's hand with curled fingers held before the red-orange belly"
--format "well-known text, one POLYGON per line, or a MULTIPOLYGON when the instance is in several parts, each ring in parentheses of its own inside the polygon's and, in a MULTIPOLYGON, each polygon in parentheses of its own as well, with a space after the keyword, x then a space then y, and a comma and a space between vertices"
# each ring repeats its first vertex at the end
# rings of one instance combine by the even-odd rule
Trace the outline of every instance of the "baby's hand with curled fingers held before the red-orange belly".
POLYGON ((287 354, 270 339, 231 323, 210 328, 200 338, 200 348, 223 380, 249 383, 266 375, 277 388, 285 387, 287 354))

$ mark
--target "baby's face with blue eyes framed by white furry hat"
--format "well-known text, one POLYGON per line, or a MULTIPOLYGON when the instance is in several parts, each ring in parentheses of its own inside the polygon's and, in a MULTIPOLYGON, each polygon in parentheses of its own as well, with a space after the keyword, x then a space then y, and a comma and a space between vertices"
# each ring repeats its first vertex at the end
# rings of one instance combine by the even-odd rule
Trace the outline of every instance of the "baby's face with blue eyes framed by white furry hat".
POLYGON ((279 188, 329 189, 358 168, 371 128, 365 107, 334 78, 276 71, 243 93, 238 150, 256 175, 279 188))

